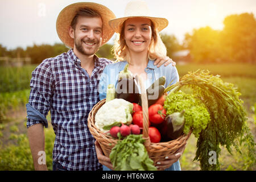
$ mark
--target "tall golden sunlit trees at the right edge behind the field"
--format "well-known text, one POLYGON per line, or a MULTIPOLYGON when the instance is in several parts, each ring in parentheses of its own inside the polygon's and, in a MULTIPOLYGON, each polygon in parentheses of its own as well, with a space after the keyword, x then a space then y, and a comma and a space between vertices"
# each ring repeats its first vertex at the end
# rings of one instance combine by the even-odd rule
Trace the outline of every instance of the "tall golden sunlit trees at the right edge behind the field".
POLYGON ((251 13, 229 15, 223 30, 211 27, 185 34, 183 46, 197 63, 256 63, 256 19, 251 13))

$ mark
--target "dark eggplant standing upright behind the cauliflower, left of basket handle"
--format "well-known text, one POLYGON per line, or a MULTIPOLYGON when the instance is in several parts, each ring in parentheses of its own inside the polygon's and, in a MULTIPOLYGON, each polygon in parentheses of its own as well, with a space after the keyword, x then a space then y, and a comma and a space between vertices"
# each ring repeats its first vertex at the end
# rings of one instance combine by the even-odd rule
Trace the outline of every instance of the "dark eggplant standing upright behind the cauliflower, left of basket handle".
POLYGON ((129 64, 125 65, 123 71, 119 72, 115 98, 122 98, 131 103, 139 102, 139 88, 137 80, 128 70, 129 64))

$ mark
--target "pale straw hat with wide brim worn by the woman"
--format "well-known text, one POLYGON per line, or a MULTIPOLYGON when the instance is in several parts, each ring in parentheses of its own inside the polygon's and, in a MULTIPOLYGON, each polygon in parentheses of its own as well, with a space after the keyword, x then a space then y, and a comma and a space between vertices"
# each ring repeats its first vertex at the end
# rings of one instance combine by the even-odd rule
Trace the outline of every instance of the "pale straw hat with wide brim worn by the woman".
POLYGON ((117 33, 121 32, 122 24, 129 18, 148 18, 155 28, 160 32, 168 26, 166 18, 156 18, 150 15, 147 3, 144 1, 131 1, 126 5, 125 15, 122 18, 116 18, 109 21, 109 26, 117 33))

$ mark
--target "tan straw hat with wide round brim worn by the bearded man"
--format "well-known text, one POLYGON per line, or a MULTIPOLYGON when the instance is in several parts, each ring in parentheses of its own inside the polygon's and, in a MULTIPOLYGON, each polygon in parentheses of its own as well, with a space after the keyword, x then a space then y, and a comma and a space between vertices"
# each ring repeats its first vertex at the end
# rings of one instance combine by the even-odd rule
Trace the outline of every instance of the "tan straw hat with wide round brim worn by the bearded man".
POLYGON ((60 11, 57 17, 56 30, 60 40, 68 47, 74 47, 74 39, 69 36, 68 28, 71 26, 72 20, 77 11, 82 8, 90 8, 101 15, 102 19, 102 42, 101 46, 112 38, 114 31, 109 27, 109 20, 114 19, 114 13, 108 7, 93 2, 73 3, 60 11))

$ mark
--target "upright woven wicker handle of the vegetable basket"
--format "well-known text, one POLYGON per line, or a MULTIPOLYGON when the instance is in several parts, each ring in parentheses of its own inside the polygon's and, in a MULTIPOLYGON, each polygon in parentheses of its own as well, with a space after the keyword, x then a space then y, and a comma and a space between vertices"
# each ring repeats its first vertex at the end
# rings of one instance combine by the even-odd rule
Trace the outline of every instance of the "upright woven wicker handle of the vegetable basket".
POLYGON ((148 102, 147 102, 147 92, 144 88, 142 78, 139 76, 139 86, 141 87, 141 103, 142 103, 142 113, 143 113, 143 133, 142 137, 145 139, 144 146, 146 149, 150 146, 150 138, 148 137, 148 102))

